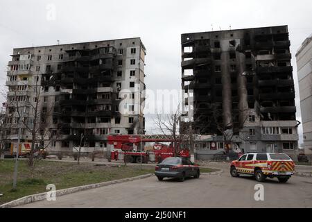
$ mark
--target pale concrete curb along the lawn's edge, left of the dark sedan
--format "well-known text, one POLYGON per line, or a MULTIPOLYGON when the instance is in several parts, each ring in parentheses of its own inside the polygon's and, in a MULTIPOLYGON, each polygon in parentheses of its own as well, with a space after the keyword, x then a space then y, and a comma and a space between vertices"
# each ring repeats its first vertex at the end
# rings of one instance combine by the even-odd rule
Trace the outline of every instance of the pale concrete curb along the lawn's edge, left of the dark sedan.
MULTIPOLYGON (((73 194, 76 193, 78 191, 83 191, 83 190, 87 190, 87 189, 94 189, 94 188, 98 188, 98 187, 104 187, 107 185, 114 185, 117 183, 121 183, 121 182, 128 182, 128 181, 132 181, 132 180, 139 180, 139 179, 144 179, 144 178, 148 178, 150 176, 153 176, 153 173, 148 173, 148 174, 144 174, 141 176, 135 176, 132 178, 123 178, 120 180, 112 180, 112 181, 107 181, 107 182, 100 182, 100 183, 96 183, 96 184, 92 184, 92 185, 83 185, 83 186, 79 186, 79 187, 71 187, 71 188, 67 188, 67 189, 60 189, 60 190, 56 190, 56 196, 63 196, 63 195, 67 195, 67 194, 73 194)), ((10 207, 16 207, 18 205, 25 205, 27 203, 33 203, 33 202, 37 202, 40 200, 45 200, 46 199, 46 194, 48 192, 44 192, 44 193, 40 193, 40 194, 32 194, 29 196, 24 196, 22 198, 19 198, 17 200, 12 200, 8 203, 4 203, 3 205, 0 205, 0 208, 10 208, 10 207)))

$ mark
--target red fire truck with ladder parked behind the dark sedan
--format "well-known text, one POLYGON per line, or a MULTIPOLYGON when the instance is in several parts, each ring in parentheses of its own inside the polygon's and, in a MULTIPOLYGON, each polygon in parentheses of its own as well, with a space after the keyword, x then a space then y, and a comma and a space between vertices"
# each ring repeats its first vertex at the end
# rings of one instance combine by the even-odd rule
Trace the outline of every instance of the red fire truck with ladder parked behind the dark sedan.
POLYGON ((108 161, 125 160, 126 162, 161 162, 166 157, 176 155, 190 157, 188 148, 180 144, 173 146, 174 139, 166 135, 109 135, 107 137, 108 161), (153 142, 153 148, 144 151, 144 144, 153 142), (170 143, 169 145, 162 143, 170 143), (140 151, 135 150, 135 148, 140 151))

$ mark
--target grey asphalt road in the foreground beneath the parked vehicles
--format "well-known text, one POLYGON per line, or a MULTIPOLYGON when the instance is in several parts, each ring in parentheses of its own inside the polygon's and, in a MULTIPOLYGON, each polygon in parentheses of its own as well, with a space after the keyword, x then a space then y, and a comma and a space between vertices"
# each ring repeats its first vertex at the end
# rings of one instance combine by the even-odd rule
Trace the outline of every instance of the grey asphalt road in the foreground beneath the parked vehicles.
POLYGON ((228 170, 184 182, 152 176, 19 207, 312 207, 312 178, 267 179, 263 201, 254 200, 257 183, 250 176, 232 178, 228 170))

